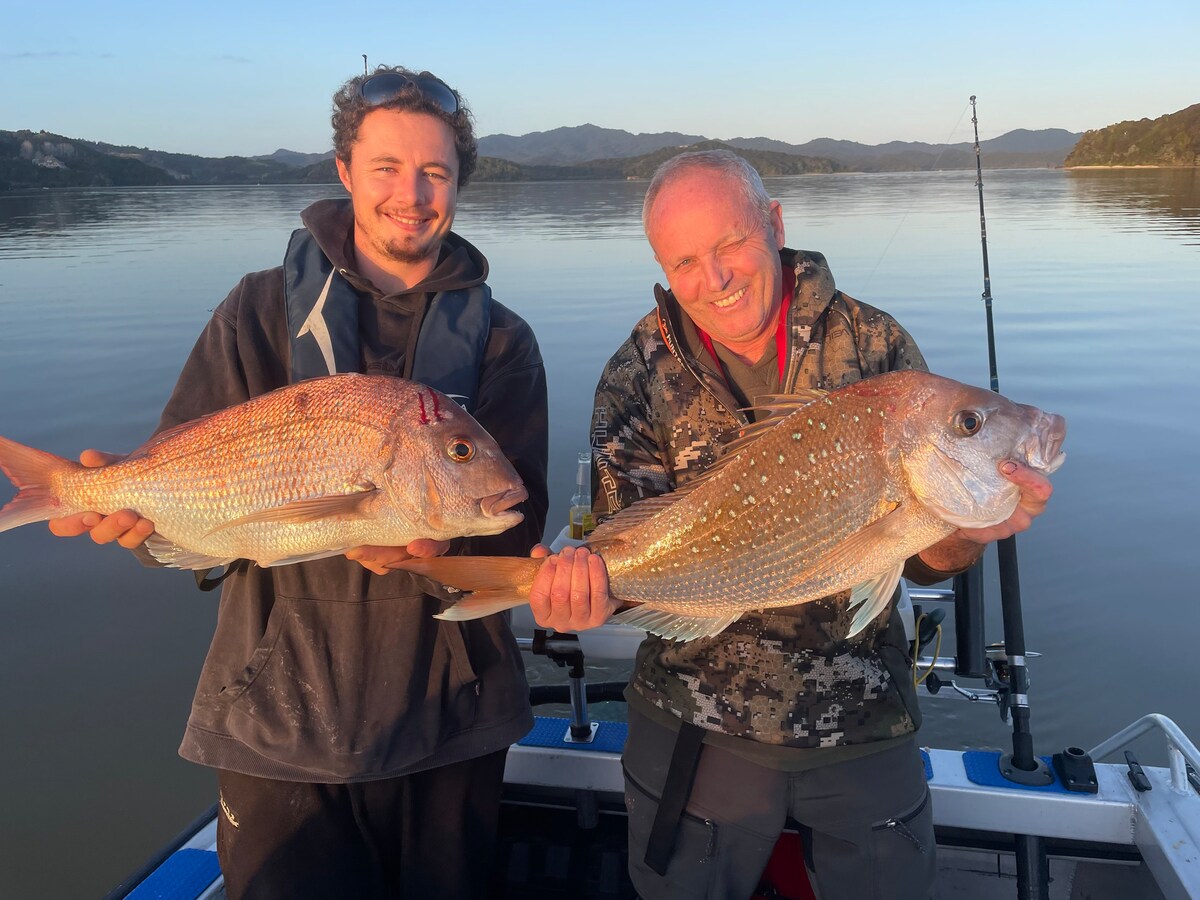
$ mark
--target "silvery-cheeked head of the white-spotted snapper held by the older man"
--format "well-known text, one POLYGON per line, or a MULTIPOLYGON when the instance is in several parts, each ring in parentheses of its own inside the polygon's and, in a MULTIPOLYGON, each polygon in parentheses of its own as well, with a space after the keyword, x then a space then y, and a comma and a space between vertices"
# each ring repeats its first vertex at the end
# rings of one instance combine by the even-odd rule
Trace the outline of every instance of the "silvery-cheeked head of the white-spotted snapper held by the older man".
POLYGON ((901 401, 894 425, 889 445, 910 490, 955 528, 997 524, 1016 509, 1020 490, 998 469, 1004 460, 1050 474, 1067 458, 1061 415, 938 377, 901 401))

